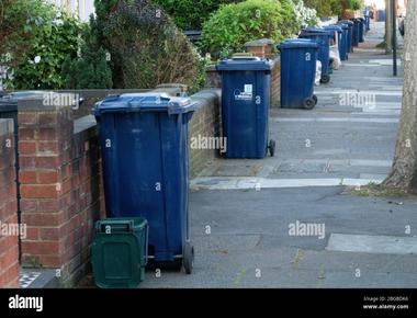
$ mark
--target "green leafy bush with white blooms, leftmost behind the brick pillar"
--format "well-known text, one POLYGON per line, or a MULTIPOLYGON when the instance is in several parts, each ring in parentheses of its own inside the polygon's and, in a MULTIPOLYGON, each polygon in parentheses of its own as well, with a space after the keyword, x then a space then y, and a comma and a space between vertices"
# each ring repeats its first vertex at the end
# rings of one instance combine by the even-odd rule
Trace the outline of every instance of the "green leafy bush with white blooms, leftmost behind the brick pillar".
POLYGON ((5 15, 10 27, 22 26, 22 20, 11 16, 26 16, 23 31, 9 35, 4 42, 4 50, 11 57, 7 89, 64 88, 63 63, 67 56, 77 55, 81 24, 42 0, 18 0, 5 15))

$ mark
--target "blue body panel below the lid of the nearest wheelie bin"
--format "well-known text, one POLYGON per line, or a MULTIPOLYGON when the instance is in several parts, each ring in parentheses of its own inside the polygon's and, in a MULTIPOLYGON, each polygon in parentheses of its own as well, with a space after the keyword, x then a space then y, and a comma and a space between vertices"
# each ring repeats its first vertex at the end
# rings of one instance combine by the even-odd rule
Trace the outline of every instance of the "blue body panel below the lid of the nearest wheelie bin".
POLYGON ((157 261, 181 255, 188 238, 190 116, 121 112, 100 118, 109 217, 146 218, 149 251, 157 261))

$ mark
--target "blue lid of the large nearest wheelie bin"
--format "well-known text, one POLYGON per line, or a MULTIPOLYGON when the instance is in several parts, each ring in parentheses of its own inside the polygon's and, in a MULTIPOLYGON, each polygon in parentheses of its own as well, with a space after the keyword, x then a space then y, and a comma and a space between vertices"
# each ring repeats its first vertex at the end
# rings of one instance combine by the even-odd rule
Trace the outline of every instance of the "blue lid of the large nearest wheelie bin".
POLYGON ((190 98, 170 96, 167 93, 127 93, 108 96, 95 103, 93 114, 131 113, 131 112, 168 112, 168 114, 183 114, 193 112, 198 103, 190 98))

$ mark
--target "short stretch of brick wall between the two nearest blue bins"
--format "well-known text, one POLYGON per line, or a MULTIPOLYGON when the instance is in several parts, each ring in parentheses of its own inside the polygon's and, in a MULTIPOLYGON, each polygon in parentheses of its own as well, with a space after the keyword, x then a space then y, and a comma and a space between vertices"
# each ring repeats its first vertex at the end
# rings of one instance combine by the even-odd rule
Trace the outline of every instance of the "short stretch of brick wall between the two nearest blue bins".
MULTIPOLYGON (((221 136, 221 90, 203 90, 191 96, 200 103, 189 124, 189 141, 192 138, 221 136)), ((190 148, 190 175, 195 177, 206 164, 218 156, 218 149, 190 148)))

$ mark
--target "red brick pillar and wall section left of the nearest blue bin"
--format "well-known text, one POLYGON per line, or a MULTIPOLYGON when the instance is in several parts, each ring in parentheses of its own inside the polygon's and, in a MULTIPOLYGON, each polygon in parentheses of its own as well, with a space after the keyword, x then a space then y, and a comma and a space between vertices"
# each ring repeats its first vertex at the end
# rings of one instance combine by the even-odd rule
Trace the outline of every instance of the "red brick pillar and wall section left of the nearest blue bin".
POLYGON ((19 103, 22 264, 60 269, 71 284, 88 268, 92 228, 101 212, 95 127, 76 127, 69 106, 19 103))

